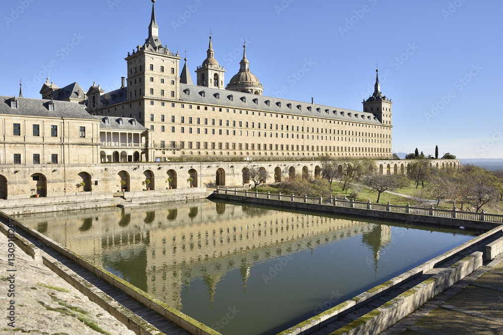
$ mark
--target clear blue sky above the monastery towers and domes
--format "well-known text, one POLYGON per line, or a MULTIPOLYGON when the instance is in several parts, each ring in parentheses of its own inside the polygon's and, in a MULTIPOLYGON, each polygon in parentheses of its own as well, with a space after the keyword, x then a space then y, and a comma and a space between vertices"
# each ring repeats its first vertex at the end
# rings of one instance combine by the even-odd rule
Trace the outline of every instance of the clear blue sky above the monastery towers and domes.
MULTIPOLYGON (((17 95, 22 78, 24 96, 34 98, 48 70, 59 87, 118 88, 127 52, 147 38, 152 5, 2 4, 0 94, 17 95)), ((378 62, 381 91, 394 102, 393 152, 434 154, 438 145, 440 155, 503 157, 501 1, 157 0, 155 8, 161 42, 182 56, 187 49, 193 78, 210 29, 225 84, 246 40, 250 70, 269 96, 361 110, 378 62)))

